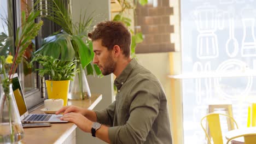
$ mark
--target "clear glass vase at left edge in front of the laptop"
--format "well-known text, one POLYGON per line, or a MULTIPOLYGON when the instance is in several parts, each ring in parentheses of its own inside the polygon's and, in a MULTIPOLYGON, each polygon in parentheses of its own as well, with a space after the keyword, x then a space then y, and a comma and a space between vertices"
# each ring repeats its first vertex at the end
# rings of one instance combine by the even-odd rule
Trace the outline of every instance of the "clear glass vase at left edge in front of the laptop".
POLYGON ((0 143, 18 143, 24 137, 12 85, 0 85, 0 143), (8 92, 9 91, 9 92, 8 92))

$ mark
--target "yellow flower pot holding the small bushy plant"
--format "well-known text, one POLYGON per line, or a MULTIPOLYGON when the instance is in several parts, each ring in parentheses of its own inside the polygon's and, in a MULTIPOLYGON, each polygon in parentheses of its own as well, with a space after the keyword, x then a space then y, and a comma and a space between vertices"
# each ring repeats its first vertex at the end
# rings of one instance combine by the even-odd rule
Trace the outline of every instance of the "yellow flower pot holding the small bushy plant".
POLYGON ((48 99, 63 99, 63 106, 67 105, 68 90, 70 80, 67 81, 50 81, 46 80, 46 89, 48 99))

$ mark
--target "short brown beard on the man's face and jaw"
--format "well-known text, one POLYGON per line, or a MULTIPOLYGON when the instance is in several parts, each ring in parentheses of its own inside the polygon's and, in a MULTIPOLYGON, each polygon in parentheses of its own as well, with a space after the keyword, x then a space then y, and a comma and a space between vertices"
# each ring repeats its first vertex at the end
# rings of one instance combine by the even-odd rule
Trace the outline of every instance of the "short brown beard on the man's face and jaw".
POLYGON ((116 66, 117 66, 117 63, 114 62, 114 59, 110 55, 108 55, 106 64, 104 65, 104 67, 102 67, 102 71, 101 71, 102 75, 109 75, 113 73, 116 66))

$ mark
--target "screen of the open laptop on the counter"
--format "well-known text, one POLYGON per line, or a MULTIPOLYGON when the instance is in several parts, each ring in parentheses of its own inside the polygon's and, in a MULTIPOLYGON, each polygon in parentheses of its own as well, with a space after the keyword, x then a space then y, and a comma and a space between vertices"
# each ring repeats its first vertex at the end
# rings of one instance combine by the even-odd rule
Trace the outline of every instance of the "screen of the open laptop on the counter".
POLYGON ((27 112, 27 107, 26 107, 24 95, 21 89, 19 77, 17 74, 14 74, 12 83, 13 83, 13 94, 15 97, 15 101, 18 106, 20 116, 22 116, 27 112))

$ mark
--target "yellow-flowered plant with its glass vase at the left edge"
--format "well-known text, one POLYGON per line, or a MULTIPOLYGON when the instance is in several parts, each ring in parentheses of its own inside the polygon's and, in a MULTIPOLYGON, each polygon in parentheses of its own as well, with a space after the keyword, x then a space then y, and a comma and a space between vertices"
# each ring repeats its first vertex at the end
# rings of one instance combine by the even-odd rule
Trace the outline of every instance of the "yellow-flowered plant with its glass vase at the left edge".
POLYGON ((4 32, 0 34, 0 143, 18 143, 24 137, 14 99, 12 79, 18 65, 22 62, 26 48, 43 25, 43 21, 35 23, 39 14, 40 11, 35 10, 26 16, 22 11, 21 26, 17 28, 15 43, 12 23, 1 17, 11 31, 9 34, 4 32))

